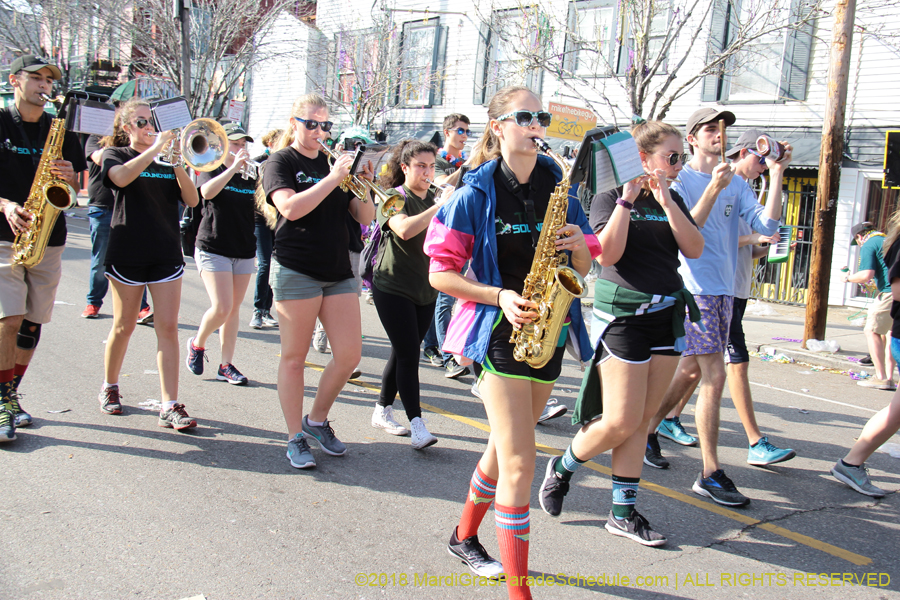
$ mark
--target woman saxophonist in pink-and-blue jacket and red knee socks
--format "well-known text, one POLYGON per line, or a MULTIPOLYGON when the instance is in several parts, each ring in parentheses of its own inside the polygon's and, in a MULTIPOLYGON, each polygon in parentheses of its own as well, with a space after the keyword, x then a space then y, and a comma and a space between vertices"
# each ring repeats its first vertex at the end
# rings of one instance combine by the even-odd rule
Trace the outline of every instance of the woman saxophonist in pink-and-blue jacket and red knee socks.
MULTIPOLYGON (((514 327, 538 316, 536 305, 517 290, 524 289, 538 239, 536 223, 543 221, 561 174, 535 148, 533 139, 543 137, 550 114, 543 112, 540 98, 531 90, 500 90, 488 105, 488 116, 488 128, 473 157, 480 166, 463 177, 467 185, 438 211, 425 241, 431 284, 463 300, 443 350, 482 363, 479 389, 491 426, 449 550, 479 575, 505 571, 510 598, 531 598, 525 579, 534 427, 559 377, 565 345, 558 346, 549 363, 535 369, 513 358, 509 339, 514 327), (533 202, 533 218, 524 217, 525 199, 533 202), (474 279, 459 272, 469 259, 474 279), (477 535, 492 499, 502 566, 487 554, 477 535)), ((571 253, 571 265, 587 274, 600 246, 578 202, 568 203, 566 222, 556 232, 556 249, 571 253)), ((569 314, 580 321, 577 303, 569 314)))

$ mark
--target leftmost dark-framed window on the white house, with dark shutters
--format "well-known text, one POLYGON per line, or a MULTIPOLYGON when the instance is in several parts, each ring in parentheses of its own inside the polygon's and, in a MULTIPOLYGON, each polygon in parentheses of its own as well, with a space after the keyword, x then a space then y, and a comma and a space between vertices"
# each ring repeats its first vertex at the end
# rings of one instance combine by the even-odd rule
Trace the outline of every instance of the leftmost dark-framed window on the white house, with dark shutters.
POLYGON ((400 41, 400 86, 397 102, 401 106, 441 104, 447 28, 440 19, 403 24, 400 41))

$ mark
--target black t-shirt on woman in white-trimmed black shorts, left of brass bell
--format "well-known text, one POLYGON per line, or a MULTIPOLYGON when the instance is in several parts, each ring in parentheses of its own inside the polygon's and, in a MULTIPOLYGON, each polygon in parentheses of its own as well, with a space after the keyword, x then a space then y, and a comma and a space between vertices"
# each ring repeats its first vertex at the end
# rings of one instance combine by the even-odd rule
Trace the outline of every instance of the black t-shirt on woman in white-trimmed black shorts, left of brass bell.
POLYGON ((113 206, 107 265, 145 267, 181 265, 181 232, 178 204, 181 188, 172 167, 150 163, 124 188, 109 179, 109 170, 124 165, 140 152, 133 148, 103 151, 103 185, 113 191, 113 206))

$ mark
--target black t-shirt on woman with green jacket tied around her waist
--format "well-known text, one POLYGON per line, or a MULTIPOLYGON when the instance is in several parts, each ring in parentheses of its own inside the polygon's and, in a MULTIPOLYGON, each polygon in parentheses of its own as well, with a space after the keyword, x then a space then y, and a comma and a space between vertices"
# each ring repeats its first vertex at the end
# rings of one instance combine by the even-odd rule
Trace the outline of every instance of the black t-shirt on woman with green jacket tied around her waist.
MULTIPOLYGON (((669 193, 681 212, 694 223, 681 196, 674 190, 669 190, 669 193)), ((594 196, 590 217, 594 232, 600 233, 612 216, 616 199, 621 196, 621 188, 594 196)), ((681 275, 678 274, 679 265, 678 243, 665 211, 652 193, 641 190, 634 201, 634 210, 631 211, 622 258, 610 267, 603 267, 600 278, 636 292, 672 294, 684 287, 681 275)))

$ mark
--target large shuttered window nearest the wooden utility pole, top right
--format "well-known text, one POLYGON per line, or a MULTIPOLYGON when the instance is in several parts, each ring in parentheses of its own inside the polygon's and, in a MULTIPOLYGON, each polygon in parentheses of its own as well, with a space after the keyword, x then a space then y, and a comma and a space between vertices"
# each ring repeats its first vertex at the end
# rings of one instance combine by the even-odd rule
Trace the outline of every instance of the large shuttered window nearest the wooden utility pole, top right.
MULTIPOLYGON (((703 101, 806 99, 814 29, 814 24, 806 21, 809 9, 801 0, 793 0, 789 9, 779 9, 775 0, 765 4, 773 11, 769 17, 781 20, 785 27, 747 42, 727 64, 704 77, 703 101)), ((735 43, 742 27, 752 27, 754 16, 757 21, 769 18, 760 16, 760 11, 760 6, 749 0, 715 0, 707 62, 735 43)))

